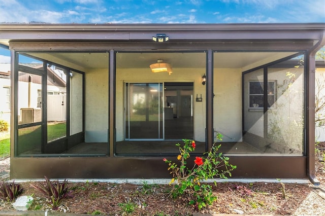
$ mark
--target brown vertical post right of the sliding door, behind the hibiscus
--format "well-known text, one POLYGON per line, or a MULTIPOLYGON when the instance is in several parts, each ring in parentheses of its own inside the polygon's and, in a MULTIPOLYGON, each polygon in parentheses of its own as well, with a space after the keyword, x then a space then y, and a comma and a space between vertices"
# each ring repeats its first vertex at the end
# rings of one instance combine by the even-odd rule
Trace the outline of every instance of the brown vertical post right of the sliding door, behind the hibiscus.
POLYGON ((208 150, 213 144, 213 52, 211 49, 208 50, 207 55, 207 81, 206 81, 206 92, 207 92, 207 107, 206 107, 206 141, 208 142, 208 150))

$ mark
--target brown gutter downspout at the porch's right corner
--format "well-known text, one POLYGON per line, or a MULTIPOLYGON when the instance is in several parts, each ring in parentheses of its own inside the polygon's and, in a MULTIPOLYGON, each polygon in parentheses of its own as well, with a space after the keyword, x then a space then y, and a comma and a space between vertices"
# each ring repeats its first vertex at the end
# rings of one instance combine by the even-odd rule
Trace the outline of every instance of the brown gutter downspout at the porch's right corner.
POLYGON ((325 31, 321 32, 320 40, 307 50, 307 174, 310 182, 315 186, 320 185, 315 175, 315 55, 323 46, 325 46, 325 31))

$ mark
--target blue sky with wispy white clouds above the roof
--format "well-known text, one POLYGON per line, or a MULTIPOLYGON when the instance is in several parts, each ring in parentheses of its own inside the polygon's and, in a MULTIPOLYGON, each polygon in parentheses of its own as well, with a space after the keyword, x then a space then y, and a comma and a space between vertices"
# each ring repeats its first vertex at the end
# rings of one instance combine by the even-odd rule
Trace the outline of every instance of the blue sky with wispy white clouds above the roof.
MULTIPOLYGON (((0 24, 315 22, 325 0, 0 0, 0 24)), ((9 55, 0 48, 0 63, 9 55)))

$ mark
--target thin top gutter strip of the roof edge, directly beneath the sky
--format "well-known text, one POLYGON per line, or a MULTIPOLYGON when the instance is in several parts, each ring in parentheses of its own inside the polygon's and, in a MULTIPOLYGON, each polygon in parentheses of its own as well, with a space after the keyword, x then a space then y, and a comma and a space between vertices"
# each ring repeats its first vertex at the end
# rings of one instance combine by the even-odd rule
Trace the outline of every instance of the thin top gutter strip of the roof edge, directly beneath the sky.
POLYGON ((316 30, 325 29, 325 23, 208 23, 208 24, 25 24, 0 23, 0 30, 68 30, 68 31, 143 31, 143 30, 316 30))

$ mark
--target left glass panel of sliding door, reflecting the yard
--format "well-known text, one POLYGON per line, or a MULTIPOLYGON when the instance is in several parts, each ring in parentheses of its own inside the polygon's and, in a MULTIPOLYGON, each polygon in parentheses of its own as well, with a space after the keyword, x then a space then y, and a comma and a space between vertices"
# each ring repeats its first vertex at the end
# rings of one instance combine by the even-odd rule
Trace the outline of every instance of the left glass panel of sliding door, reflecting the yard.
POLYGON ((163 139, 163 84, 127 83, 125 90, 125 137, 163 139))

